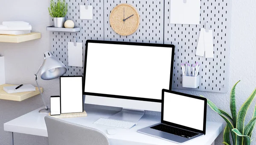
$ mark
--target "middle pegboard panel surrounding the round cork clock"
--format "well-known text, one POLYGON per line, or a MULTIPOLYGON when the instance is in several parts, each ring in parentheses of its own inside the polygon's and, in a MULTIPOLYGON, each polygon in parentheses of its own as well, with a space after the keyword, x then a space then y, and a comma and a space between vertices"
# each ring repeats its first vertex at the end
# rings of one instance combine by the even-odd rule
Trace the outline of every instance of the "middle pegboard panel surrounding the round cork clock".
POLYGON ((105 40, 163 44, 163 7, 163 0, 105 0, 105 40), (129 36, 120 36, 110 26, 110 13, 120 3, 134 6, 140 14, 140 26, 129 36))

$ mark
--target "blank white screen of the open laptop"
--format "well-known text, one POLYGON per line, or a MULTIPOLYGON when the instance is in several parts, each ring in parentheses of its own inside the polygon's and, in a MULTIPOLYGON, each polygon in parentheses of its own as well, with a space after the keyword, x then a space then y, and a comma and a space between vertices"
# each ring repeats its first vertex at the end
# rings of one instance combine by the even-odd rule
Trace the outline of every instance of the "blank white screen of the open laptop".
POLYGON ((204 100, 164 92, 163 120, 204 130, 204 100))

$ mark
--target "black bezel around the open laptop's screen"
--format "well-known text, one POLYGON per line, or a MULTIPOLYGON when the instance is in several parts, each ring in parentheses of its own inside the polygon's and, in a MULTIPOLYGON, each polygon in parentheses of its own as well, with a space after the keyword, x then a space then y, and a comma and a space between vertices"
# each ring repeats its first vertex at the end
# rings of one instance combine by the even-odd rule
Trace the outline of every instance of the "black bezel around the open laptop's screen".
POLYGON ((182 128, 182 129, 185 129, 185 130, 205 134, 206 133, 206 116, 207 116, 207 98, 198 97, 198 96, 194 96, 194 95, 189 95, 189 94, 185 94, 185 93, 181 93, 181 92, 175 92, 175 91, 167 90, 167 89, 162 90, 161 123, 164 123, 164 124, 170 125, 170 126, 174 126, 174 127, 177 127, 177 128, 182 128), (198 100, 204 100, 204 125, 203 125, 203 130, 202 131, 198 130, 198 129, 195 129, 195 128, 190 128, 190 127, 187 127, 187 126, 183 126, 183 125, 179 125, 179 124, 176 124, 176 123, 171 123, 169 121, 163 120, 163 111, 164 111, 163 106, 164 106, 164 93, 165 92, 171 93, 171 94, 176 94, 176 95, 182 95, 182 96, 185 96, 185 97, 194 98, 194 99, 198 99, 198 100))

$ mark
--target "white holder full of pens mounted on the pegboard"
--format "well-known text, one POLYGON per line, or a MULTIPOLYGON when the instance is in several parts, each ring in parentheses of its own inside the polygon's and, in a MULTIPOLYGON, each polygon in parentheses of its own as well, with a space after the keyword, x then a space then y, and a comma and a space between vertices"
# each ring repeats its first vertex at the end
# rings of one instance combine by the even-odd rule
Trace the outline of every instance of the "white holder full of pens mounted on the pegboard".
POLYGON ((200 75, 198 74, 200 64, 195 65, 181 64, 182 69, 182 87, 184 88, 197 88, 200 84, 200 75), (192 68, 192 69, 190 69, 192 68), (192 70, 192 71, 191 71, 192 70))

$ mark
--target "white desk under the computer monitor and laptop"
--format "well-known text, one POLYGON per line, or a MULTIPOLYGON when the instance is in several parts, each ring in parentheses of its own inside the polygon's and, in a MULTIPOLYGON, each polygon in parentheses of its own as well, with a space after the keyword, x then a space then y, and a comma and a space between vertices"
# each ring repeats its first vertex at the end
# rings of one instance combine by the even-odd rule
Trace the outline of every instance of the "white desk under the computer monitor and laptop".
MULTIPOLYGON (((42 108, 40 108, 42 109, 42 108)), ((37 136, 48 137, 47 128, 44 122, 44 117, 47 114, 39 114, 36 109, 29 112, 23 116, 20 116, 14 120, 4 123, 4 130, 10 132, 11 144, 13 145, 13 132, 21 134, 32 134, 37 136)), ((143 118, 131 129, 116 128, 115 135, 108 135, 106 129, 113 128, 106 125, 93 124, 100 117, 108 118, 109 116, 116 113, 116 111, 101 110, 101 109, 87 109, 87 117, 77 117, 77 118, 65 118, 72 123, 77 123, 93 128, 97 128, 104 132, 111 145, 177 145, 172 142, 168 142, 163 139, 158 139, 155 137, 150 137, 145 134, 140 134, 137 132, 138 129, 147 127, 160 122, 160 116, 155 115, 144 115, 143 118)), ((199 137, 183 145, 211 145, 214 144, 214 140, 222 131, 222 123, 207 122, 206 135, 199 137)))

